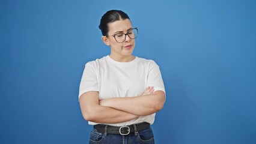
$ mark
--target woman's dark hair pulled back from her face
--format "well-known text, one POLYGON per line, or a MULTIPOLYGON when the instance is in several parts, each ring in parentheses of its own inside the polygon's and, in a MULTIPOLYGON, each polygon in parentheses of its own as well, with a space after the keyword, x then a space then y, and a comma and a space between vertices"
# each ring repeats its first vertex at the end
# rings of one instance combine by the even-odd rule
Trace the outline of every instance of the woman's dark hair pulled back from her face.
POLYGON ((100 19, 99 28, 102 31, 102 35, 108 35, 108 23, 115 22, 117 20, 130 19, 129 16, 121 10, 110 10, 107 11, 100 19))

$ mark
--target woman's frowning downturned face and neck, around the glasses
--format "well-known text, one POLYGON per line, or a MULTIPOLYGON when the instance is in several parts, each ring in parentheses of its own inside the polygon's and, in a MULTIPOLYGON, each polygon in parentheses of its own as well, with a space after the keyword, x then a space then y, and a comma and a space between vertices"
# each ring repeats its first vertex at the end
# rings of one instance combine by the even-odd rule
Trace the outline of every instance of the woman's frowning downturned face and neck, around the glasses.
POLYGON ((130 20, 117 20, 115 22, 109 23, 108 27, 109 36, 105 37, 105 40, 103 38, 103 41, 105 44, 111 47, 111 56, 115 58, 125 58, 131 56, 135 47, 135 39, 131 39, 128 37, 128 35, 126 35, 126 40, 123 43, 118 43, 115 38, 111 36, 118 33, 127 34, 127 31, 132 29, 132 23, 130 20))

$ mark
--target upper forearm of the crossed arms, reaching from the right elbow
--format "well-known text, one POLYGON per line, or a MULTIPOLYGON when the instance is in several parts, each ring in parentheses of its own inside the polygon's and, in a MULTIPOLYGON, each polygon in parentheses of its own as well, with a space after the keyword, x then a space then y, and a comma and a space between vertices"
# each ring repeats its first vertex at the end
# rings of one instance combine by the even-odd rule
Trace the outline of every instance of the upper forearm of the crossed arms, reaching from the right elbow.
POLYGON ((145 116, 162 109, 165 94, 162 91, 138 97, 109 98, 101 101, 100 105, 122 110, 133 115, 145 116))

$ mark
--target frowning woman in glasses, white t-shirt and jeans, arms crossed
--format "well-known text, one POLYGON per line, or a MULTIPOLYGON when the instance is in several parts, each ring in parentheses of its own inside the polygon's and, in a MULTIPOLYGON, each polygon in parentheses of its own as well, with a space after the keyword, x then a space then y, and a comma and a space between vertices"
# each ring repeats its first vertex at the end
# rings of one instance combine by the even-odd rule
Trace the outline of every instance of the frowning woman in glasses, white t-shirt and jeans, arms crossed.
POLYGON ((165 102, 159 67, 132 55, 138 28, 123 11, 107 11, 99 28, 111 53, 85 64, 79 88, 90 143, 154 143, 150 125, 165 102))

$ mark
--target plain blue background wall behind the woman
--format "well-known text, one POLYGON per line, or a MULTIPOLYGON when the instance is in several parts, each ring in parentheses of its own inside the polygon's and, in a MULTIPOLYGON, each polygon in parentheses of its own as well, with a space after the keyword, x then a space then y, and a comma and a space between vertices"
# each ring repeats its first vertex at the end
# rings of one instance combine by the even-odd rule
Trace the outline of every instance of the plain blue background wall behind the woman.
POLYGON ((88 143, 79 82, 109 54, 98 25, 111 9, 162 71, 156 143, 256 143, 256 2, 244 0, 1 1, 0 143, 88 143))

